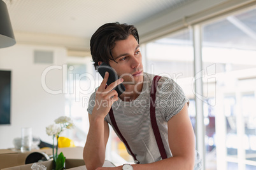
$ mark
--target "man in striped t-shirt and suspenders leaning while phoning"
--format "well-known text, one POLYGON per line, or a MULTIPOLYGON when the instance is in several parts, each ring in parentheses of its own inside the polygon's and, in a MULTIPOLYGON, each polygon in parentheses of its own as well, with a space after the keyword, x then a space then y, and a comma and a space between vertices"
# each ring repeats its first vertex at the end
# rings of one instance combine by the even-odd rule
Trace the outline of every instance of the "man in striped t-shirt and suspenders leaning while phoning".
POLYGON ((92 36, 90 50, 96 69, 107 63, 120 79, 106 86, 109 77, 106 72, 90 97, 94 105, 88 108, 90 129, 83 151, 87 169, 199 169, 201 164, 196 160, 194 131, 188 117, 189 101, 172 79, 155 80, 154 75, 143 72, 137 29, 133 25, 106 23, 92 36), (118 96, 113 88, 122 82, 125 91, 118 96), (154 84, 155 92, 151 91, 154 84), (137 164, 102 167, 108 124, 124 141, 137 164))

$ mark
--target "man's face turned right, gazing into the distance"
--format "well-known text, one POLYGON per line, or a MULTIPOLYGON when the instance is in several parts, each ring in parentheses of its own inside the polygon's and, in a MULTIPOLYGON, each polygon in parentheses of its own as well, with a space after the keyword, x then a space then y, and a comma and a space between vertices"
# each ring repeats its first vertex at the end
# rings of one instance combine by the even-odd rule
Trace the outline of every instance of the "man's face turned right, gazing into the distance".
POLYGON ((110 66, 124 79, 124 84, 143 82, 141 52, 138 42, 132 35, 125 40, 116 41, 111 53, 117 63, 111 60, 110 66))

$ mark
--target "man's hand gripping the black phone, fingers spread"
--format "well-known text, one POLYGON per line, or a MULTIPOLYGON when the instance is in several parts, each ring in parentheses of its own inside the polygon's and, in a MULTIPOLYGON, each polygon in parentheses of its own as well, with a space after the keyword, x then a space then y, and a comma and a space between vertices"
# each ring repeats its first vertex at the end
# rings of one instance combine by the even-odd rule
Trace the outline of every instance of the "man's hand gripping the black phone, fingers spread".
POLYGON ((115 101, 118 100, 117 91, 113 90, 118 84, 121 84, 124 79, 118 79, 115 82, 112 82, 110 86, 106 88, 106 82, 108 81, 109 73, 106 72, 103 81, 101 82, 101 86, 96 91, 96 100, 95 106, 92 110, 92 115, 106 117, 108 112, 110 112, 110 108, 115 101))

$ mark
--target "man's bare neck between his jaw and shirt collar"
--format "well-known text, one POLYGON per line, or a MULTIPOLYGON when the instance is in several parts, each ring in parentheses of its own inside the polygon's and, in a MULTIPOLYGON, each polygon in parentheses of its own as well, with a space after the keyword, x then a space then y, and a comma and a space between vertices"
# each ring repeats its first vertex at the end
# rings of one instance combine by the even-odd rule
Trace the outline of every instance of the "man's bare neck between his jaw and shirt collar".
POLYGON ((122 101, 133 101, 138 98, 139 94, 141 93, 143 89, 143 82, 133 85, 133 84, 124 84, 125 91, 122 95, 119 96, 119 98, 122 101))

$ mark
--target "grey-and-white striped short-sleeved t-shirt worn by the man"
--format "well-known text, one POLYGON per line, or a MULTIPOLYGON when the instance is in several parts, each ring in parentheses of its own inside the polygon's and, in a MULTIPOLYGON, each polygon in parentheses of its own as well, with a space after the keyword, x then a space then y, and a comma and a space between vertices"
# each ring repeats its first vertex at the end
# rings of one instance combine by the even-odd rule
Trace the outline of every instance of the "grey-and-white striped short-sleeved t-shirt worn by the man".
MULTIPOLYGON (((141 164, 162 159, 150 122, 150 91, 153 77, 152 74, 144 73, 143 89, 136 100, 122 101, 119 98, 112 105, 117 126, 141 164)), ((87 109, 89 114, 92 114, 95 98, 96 92, 90 96, 90 105, 87 109)), ((155 98, 155 115, 167 157, 172 157, 167 136, 167 121, 178 114, 185 103, 189 101, 180 86, 173 79, 161 77, 155 98)), ((104 120, 112 126, 109 114, 104 120)), ((116 132, 116 129, 113 129, 116 132)), ((131 155, 129 150, 127 152, 131 155)))

